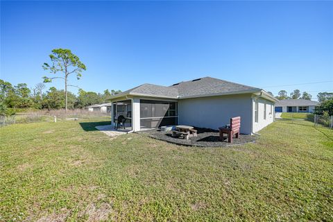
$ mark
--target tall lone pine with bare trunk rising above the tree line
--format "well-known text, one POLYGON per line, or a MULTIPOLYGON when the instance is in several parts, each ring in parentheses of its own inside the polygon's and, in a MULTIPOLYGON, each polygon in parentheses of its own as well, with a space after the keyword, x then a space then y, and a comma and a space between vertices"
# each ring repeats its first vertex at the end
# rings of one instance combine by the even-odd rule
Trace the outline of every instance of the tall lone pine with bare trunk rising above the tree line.
POLYGON ((52 65, 44 63, 42 66, 44 70, 49 70, 51 74, 62 73, 62 76, 47 77, 44 76, 44 83, 51 83, 55 78, 61 78, 65 80, 65 109, 67 111, 67 87, 73 86, 68 84, 68 77, 71 74, 76 74, 76 78, 79 80, 82 76, 82 71, 86 70, 85 65, 80 61, 78 56, 71 53, 69 49, 53 49, 52 54, 49 56, 52 65))

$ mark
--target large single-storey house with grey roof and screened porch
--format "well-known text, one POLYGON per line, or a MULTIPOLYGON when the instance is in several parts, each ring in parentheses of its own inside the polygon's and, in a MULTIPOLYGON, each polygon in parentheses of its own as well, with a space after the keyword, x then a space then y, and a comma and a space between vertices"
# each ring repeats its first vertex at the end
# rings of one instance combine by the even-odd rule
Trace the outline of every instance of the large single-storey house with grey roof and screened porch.
POLYGON ((240 116, 241 133, 250 135, 273 122, 278 100, 263 89, 205 77, 168 87, 139 85, 110 101, 112 124, 123 114, 128 130, 180 124, 216 130, 240 116))

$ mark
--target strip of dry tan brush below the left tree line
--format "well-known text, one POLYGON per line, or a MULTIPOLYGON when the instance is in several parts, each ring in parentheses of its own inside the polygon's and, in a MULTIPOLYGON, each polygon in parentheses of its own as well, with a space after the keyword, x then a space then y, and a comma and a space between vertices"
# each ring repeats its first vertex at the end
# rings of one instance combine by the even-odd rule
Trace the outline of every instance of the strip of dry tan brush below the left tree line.
POLYGON ((11 116, 0 115, 0 127, 15 123, 36 123, 45 121, 66 121, 78 119, 92 119, 97 117, 110 117, 110 112, 88 110, 40 110, 29 113, 17 113, 11 116))

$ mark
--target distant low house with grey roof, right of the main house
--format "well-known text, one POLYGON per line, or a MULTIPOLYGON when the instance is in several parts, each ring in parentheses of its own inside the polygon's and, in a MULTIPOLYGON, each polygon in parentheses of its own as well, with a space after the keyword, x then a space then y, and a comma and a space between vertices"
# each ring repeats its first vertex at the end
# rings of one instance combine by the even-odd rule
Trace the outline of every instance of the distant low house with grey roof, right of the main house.
POLYGON ((314 112, 318 105, 306 99, 284 99, 275 103, 275 112, 314 112))

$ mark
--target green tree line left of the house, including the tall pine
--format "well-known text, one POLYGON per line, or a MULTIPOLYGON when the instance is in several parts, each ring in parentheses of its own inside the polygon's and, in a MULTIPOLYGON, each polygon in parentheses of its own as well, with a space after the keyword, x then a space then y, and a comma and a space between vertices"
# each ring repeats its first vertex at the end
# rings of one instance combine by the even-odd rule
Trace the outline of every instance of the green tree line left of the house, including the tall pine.
POLYGON ((53 49, 49 58, 51 63, 44 62, 42 68, 44 71, 49 71, 50 76, 42 77, 44 82, 37 83, 35 87, 29 88, 26 83, 12 85, 0 79, 0 114, 13 114, 18 109, 85 108, 88 105, 105 103, 111 95, 121 92, 114 89, 111 91, 105 89, 103 94, 85 92, 76 85, 70 85, 69 76, 75 74, 79 80, 87 67, 69 49, 53 49), (51 83, 55 79, 64 80, 65 89, 50 87, 44 92, 46 88, 44 83, 51 83), (68 91, 69 86, 79 88, 78 96, 68 91))

